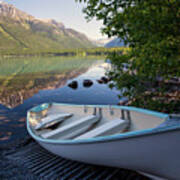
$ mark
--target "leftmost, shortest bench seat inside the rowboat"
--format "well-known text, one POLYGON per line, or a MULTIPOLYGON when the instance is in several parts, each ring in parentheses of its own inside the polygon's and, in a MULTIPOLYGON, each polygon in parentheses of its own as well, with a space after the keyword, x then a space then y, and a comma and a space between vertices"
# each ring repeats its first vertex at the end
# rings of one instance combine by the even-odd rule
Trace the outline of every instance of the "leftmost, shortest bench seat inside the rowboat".
POLYGON ((72 115, 72 113, 59 113, 48 115, 47 117, 41 119, 42 122, 35 126, 35 130, 42 129, 44 127, 50 127, 56 123, 62 122, 63 120, 71 117, 72 115))

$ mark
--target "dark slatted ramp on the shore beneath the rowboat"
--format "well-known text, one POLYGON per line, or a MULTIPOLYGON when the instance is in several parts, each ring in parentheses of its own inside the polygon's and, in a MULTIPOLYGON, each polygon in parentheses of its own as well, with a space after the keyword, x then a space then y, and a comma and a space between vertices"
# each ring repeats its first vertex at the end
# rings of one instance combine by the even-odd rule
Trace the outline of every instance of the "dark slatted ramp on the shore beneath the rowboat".
MULTIPOLYGON (((2 155, 1 155, 2 156, 2 155)), ((49 153, 33 140, 17 147, 16 150, 7 150, 3 160, 8 165, 1 167, 11 172, 14 179, 23 179, 19 169, 25 173, 24 179, 41 180, 146 180, 148 178, 134 171, 94 166, 67 160, 49 153), (15 168, 16 167, 16 168, 15 168), (13 170, 15 168, 15 170, 13 170), (17 175, 17 177, 16 177, 17 175)), ((7 174, 0 173, 0 179, 8 179, 7 174)), ((12 178, 13 179, 13 178, 12 178)))

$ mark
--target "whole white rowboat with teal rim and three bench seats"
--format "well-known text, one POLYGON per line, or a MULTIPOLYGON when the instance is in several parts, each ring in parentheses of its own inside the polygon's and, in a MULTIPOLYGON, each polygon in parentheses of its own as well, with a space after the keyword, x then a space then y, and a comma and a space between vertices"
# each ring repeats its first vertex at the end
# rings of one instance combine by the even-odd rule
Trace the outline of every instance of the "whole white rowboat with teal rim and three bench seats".
POLYGON ((180 179, 176 115, 130 106, 41 104, 28 111, 27 130, 64 158, 180 179))

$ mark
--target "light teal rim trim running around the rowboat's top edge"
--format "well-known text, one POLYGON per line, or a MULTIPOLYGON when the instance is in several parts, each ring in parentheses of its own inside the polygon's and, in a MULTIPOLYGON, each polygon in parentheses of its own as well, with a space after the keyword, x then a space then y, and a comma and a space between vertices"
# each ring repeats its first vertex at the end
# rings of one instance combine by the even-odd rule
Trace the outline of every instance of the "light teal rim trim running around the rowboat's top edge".
MULTIPOLYGON (((77 106, 77 107, 82 106, 82 105, 58 104, 58 103, 53 103, 53 105, 77 106)), ((40 106, 42 106, 42 105, 40 105, 40 106)), ((108 107, 108 105, 87 105, 87 107, 95 107, 95 106, 96 107, 108 107)), ((48 144, 51 144, 51 143, 53 143, 53 144, 62 144, 62 145, 63 144, 69 144, 70 145, 70 144, 87 144, 87 143, 117 141, 117 140, 124 140, 124 139, 128 139, 128 138, 149 136, 149 135, 155 135, 155 134, 159 134, 159 133, 165 133, 165 132, 180 130, 180 120, 178 120, 177 122, 172 123, 172 124, 171 123, 166 124, 166 121, 169 121, 169 118, 168 118, 169 115, 168 114, 155 112, 155 111, 150 111, 150 110, 141 109, 141 108, 130 107, 130 106, 111 106, 111 107, 118 108, 118 109, 124 109, 124 110, 130 110, 130 111, 136 111, 136 112, 156 116, 156 117, 159 117, 159 118, 163 118, 163 119, 165 119, 165 122, 164 122, 165 125, 161 125, 161 126, 159 126, 157 128, 150 128, 150 129, 145 129, 145 130, 127 132, 127 133, 123 133, 123 134, 102 136, 102 137, 96 137, 96 138, 88 138, 88 139, 82 139, 82 140, 52 140, 52 139, 43 139, 43 138, 41 138, 39 136, 36 136, 32 132, 32 130, 30 128, 29 120, 28 120, 28 117, 27 117, 27 130, 30 133, 30 135, 35 140, 37 140, 39 142, 44 142, 44 143, 48 143, 48 144)))

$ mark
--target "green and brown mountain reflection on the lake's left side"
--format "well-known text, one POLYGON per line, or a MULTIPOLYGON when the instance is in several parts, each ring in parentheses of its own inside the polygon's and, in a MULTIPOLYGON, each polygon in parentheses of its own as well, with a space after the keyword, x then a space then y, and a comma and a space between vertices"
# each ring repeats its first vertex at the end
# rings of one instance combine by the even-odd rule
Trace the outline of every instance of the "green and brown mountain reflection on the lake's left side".
POLYGON ((55 89, 87 70, 92 59, 1 59, 0 104, 14 108, 42 89, 55 89))

